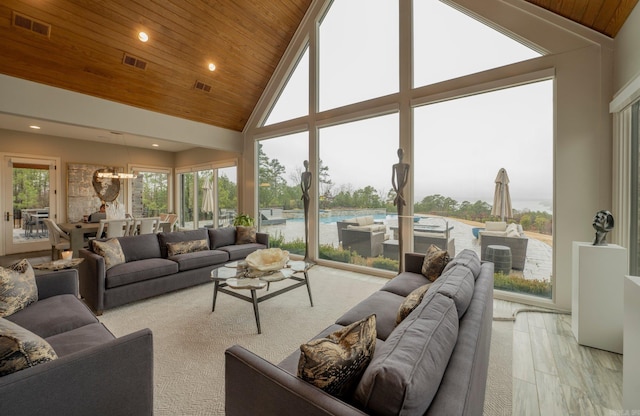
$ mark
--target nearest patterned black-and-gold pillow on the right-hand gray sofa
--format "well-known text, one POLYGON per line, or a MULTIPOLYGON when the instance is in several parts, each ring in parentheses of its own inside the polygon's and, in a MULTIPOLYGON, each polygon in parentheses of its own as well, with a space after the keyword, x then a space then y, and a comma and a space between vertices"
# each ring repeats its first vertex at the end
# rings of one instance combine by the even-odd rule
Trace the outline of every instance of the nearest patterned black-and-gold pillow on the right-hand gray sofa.
POLYGON ((300 346, 298 377, 336 397, 349 397, 376 347, 376 316, 300 346))

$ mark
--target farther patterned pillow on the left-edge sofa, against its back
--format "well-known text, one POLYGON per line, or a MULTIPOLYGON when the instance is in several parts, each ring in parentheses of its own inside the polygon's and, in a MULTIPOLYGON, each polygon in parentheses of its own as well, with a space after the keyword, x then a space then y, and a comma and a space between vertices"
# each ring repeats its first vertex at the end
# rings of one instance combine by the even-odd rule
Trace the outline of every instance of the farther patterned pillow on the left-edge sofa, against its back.
POLYGON ((38 300, 36 277, 27 259, 0 267, 0 317, 9 316, 38 300))

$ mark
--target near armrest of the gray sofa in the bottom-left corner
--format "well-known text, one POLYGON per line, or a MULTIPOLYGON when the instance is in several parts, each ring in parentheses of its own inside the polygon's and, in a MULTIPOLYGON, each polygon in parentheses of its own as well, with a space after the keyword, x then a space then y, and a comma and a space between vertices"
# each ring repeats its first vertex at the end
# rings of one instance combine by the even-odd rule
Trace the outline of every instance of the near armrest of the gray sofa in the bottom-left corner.
POLYGON ((153 414, 149 329, 0 377, 2 415, 153 414))

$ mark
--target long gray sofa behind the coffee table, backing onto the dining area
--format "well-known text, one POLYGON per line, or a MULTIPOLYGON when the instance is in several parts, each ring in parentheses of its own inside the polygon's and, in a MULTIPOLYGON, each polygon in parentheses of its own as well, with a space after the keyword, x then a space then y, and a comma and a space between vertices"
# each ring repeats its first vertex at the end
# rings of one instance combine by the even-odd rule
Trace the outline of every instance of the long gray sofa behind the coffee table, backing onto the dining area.
POLYGON ((118 237, 125 262, 106 268, 91 245, 79 256, 80 294, 98 315, 105 309, 211 281, 211 270, 267 248, 269 235, 236 244, 235 227, 118 237), (206 240, 208 250, 171 255, 171 244, 206 240))

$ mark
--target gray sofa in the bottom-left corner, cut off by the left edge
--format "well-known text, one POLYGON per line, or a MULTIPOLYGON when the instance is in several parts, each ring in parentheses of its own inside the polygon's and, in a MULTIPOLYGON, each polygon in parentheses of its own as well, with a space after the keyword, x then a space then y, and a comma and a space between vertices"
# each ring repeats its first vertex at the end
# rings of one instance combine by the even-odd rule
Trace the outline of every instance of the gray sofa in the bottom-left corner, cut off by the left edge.
POLYGON ((0 377, 0 415, 153 414, 153 338, 116 338, 78 298, 78 273, 36 276, 38 301, 3 319, 40 336, 58 358, 0 377))

